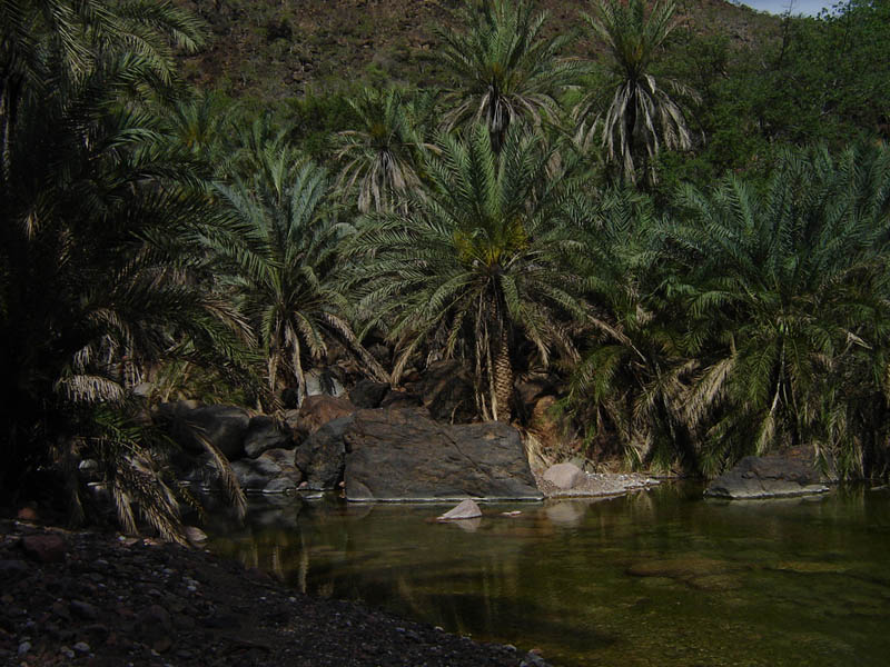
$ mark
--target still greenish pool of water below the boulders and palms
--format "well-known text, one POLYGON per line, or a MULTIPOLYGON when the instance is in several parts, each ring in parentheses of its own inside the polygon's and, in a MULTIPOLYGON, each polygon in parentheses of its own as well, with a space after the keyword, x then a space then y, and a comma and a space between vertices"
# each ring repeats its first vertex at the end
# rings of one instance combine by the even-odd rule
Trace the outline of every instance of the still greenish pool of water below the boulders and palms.
POLYGON ((443 509, 255 507, 211 548, 556 666, 890 664, 887 490, 720 502, 665 485, 427 522, 443 509))

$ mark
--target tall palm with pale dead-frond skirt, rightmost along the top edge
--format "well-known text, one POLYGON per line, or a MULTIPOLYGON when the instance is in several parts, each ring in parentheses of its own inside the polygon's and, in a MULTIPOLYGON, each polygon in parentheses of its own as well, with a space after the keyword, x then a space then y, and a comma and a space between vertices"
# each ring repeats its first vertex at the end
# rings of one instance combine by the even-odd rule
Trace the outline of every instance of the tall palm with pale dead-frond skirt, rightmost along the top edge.
POLYGON ((655 80, 652 64, 676 23, 675 4, 657 0, 647 9, 646 0, 594 0, 593 13, 584 19, 606 46, 611 70, 611 101, 592 91, 575 108, 578 139, 590 145, 602 135, 609 161, 632 182, 637 169, 646 169, 654 182, 653 160, 662 148, 688 150, 692 136, 683 110, 665 89, 694 96, 681 83, 655 80))

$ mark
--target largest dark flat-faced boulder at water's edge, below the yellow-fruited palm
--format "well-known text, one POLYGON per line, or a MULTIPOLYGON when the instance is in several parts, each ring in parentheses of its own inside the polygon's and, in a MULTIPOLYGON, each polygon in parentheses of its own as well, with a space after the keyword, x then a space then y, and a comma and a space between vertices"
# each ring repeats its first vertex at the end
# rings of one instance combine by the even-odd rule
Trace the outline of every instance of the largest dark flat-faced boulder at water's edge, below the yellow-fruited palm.
POLYGON ((360 410, 343 439, 349 500, 540 499, 518 431, 447 426, 417 410, 360 410))

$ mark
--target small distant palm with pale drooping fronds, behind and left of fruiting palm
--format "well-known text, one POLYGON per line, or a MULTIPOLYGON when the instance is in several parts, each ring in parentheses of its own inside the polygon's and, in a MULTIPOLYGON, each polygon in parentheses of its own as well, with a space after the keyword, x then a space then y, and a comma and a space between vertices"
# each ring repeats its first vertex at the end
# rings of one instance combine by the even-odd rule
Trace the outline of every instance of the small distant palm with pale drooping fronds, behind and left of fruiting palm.
POLYGON ((421 185, 416 162, 431 146, 423 142, 415 111, 429 107, 429 96, 408 100, 396 88, 365 88, 348 102, 360 128, 338 135, 337 159, 346 162, 338 186, 346 191, 357 186, 363 213, 372 205, 375 211, 390 210, 393 197, 421 185))

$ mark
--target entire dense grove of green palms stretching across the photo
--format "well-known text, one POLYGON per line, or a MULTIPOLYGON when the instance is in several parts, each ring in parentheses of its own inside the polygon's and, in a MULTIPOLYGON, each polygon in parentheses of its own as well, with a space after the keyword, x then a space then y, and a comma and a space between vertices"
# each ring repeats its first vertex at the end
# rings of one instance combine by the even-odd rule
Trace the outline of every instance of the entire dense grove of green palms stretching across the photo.
POLYGON ((89 456, 126 526, 176 537, 144 380, 275 409, 332 347, 394 385, 459 359, 483 419, 514 419, 517 374, 557 372, 641 466, 812 444, 887 472, 890 152, 792 151, 764 188, 655 211, 634 183, 692 147, 650 71, 673 6, 593 2, 596 88, 530 0, 459 11, 453 87, 358 96, 325 167, 184 87, 172 49, 202 32, 172 4, 0 1, 4 491, 51 468, 79 512, 89 456))

